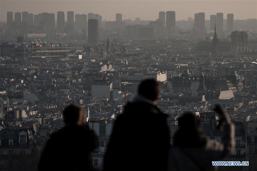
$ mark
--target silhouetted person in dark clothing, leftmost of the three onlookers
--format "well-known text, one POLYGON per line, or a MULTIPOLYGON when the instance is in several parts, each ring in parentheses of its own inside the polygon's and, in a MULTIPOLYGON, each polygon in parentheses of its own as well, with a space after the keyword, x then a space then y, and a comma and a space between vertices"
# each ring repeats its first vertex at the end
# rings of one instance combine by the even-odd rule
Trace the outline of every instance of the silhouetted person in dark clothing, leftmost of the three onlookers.
POLYGON ((91 153, 99 141, 85 125, 84 110, 77 105, 69 105, 64 109, 63 117, 65 127, 51 135, 42 152, 38 170, 94 170, 91 153))

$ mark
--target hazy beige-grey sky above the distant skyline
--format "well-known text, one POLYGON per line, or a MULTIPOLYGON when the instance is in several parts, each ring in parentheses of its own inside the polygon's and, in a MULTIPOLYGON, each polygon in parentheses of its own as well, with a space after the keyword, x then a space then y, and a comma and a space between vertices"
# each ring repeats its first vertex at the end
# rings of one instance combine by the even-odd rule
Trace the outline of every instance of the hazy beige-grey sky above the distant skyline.
MULTIPOLYGON (((228 1, 86 1, 86 0, 0 0, 0 19, 6 21, 7 11, 15 12, 28 11, 38 14, 42 12, 55 13, 57 11, 74 11, 74 14, 97 13, 102 16, 102 20, 115 20, 116 13, 129 15, 130 17, 140 17, 141 20, 156 20, 159 11, 176 11, 176 20, 187 20, 188 17, 194 17, 194 13, 204 12, 205 19, 210 19, 211 14, 219 12, 224 13, 224 19, 227 13, 234 13, 234 19, 257 18, 257 1, 252 0, 228 0, 228 1)), ((125 17, 128 19, 128 16, 125 17)), ((134 18, 133 18, 134 20, 134 18)))

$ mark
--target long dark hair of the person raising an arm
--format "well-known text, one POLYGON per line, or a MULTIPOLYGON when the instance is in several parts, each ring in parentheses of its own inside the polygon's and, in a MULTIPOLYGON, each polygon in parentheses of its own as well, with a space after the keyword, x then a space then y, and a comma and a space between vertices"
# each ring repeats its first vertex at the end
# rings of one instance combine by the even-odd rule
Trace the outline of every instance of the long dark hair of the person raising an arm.
POLYGON ((206 144, 206 136, 200 128, 200 119, 192 112, 178 118, 179 129, 174 135, 174 146, 194 148, 206 144))

